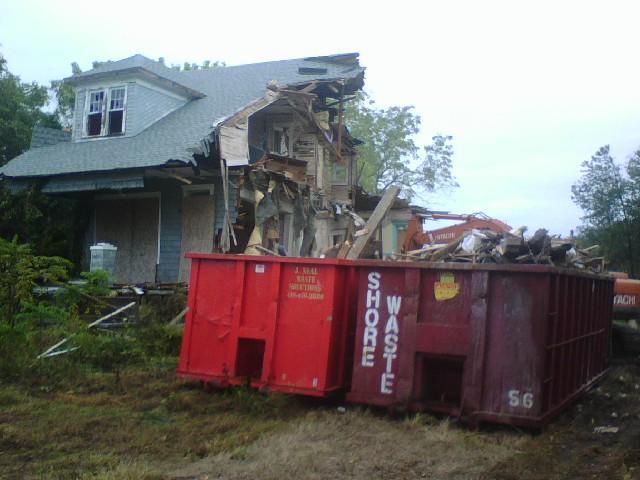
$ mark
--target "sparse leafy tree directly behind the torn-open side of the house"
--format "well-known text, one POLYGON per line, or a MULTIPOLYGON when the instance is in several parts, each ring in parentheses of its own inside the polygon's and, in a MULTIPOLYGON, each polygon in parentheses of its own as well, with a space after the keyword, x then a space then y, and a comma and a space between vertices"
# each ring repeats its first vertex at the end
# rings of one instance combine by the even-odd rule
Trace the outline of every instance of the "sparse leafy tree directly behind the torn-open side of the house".
POLYGON ((348 105, 345 124, 363 140, 358 146, 358 184, 379 194, 391 185, 403 187, 405 196, 457 186, 452 174, 451 136, 436 135, 420 147, 420 116, 412 106, 378 108, 366 94, 348 105))

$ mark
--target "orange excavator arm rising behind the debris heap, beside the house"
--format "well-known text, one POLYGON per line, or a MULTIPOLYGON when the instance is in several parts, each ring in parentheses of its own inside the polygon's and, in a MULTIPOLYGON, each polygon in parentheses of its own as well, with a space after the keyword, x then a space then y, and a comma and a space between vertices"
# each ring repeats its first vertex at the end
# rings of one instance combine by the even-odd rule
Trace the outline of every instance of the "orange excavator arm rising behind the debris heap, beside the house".
POLYGON ((473 229, 502 233, 510 231, 511 226, 482 212, 458 214, 421 209, 414 212, 411 220, 409 220, 407 234, 402 245, 403 252, 418 250, 425 244, 449 243, 463 233, 473 229), (425 220, 460 220, 462 223, 425 232, 423 229, 425 220))

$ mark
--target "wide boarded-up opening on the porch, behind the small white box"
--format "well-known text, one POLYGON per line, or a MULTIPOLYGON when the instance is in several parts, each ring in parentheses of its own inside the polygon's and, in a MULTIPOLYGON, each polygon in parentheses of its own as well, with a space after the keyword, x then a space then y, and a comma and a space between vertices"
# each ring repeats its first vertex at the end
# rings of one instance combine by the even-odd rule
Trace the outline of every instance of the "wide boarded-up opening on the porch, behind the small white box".
POLYGON ((118 247, 115 282, 155 282, 159 211, 159 197, 96 200, 96 242, 118 247))

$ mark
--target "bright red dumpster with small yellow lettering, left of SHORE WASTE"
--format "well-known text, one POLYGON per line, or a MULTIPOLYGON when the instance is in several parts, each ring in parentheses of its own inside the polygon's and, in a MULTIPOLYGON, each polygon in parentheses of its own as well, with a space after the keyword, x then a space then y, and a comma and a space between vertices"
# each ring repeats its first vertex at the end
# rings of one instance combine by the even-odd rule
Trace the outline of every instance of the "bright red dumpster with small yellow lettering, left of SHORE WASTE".
POLYGON ((345 294, 353 281, 349 262, 187 256, 191 282, 179 375, 312 396, 345 387, 354 317, 345 294))

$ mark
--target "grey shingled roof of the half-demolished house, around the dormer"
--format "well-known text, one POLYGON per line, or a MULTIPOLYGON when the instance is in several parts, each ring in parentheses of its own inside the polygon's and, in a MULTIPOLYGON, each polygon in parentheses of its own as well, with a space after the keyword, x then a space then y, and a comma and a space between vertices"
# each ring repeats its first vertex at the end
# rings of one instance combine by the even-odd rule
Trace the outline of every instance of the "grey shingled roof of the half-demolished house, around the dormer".
POLYGON ((207 70, 178 72, 141 55, 106 63, 72 77, 113 74, 130 68, 153 69, 204 96, 163 117, 131 137, 63 142, 31 149, 0 167, 0 176, 43 177, 88 172, 149 168, 169 161, 193 163, 193 152, 223 119, 264 96, 266 86, 295 85, 313 80, 347 79, 352 90, 362 87, 364 68, 357 54, 310 57, 207 70))

